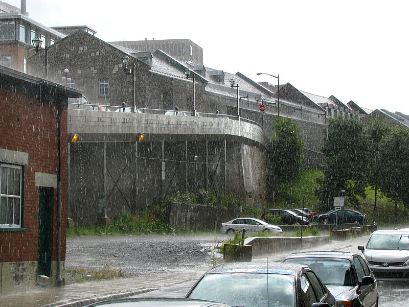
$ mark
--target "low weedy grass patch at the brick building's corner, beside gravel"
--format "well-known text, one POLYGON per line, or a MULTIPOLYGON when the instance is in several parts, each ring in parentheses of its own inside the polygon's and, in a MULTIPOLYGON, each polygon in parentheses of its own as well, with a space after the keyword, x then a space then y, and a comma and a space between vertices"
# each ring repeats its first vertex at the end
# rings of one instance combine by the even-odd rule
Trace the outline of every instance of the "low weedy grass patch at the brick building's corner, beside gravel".
POLYGON ((72 284, 73 282, 98 281, 105 279, 114 279, 124 277, 121 270, 112 269, 105 265, 100 270, 86 270, 84 268, 66 268, 65 283, 72 284))

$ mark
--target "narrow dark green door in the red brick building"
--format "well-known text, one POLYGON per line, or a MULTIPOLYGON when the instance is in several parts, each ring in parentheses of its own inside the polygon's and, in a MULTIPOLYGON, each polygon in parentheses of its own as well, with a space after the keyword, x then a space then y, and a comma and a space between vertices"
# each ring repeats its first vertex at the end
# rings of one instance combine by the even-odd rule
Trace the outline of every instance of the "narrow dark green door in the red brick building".
POLYGON ((38 189, 38 275, 51 276, 53 246, 53 188, 38 189))

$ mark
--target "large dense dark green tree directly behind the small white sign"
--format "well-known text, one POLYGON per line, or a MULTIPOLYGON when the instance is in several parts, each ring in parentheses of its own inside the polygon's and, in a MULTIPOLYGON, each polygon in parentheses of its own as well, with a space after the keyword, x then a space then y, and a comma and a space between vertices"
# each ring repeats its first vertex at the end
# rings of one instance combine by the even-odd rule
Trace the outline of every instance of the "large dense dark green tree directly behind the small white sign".
POLYGON ((333 199, 341 190, 352 205, 357 196, 365 196, 367 141, 363 125, 357 117, 336 116, 329 120, 323 146, 323 176, 317 178, 316 196, 324 210, 332 208, 333 199))

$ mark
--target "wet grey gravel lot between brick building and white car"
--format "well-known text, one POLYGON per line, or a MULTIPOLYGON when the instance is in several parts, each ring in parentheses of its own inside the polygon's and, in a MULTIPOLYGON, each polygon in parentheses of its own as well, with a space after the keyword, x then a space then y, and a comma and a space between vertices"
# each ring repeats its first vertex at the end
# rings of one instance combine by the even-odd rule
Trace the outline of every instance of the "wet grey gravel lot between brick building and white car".
POLYGON ((220 256, 213 248, 224 239, 216 233, 67 238, 65 267, 98 270, 108 265, 124 277, 200 268, 220 256))

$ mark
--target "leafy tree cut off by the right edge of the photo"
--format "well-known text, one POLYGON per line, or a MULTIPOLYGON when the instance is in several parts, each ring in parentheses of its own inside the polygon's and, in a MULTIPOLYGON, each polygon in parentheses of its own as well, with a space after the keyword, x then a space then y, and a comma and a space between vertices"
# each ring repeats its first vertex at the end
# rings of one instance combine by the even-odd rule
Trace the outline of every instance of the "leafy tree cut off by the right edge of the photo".
POLYGON ((409 205, 409 129, 394 127, 379 143, 379 190, 395 201, 395 222, 398 201, 409 205))

